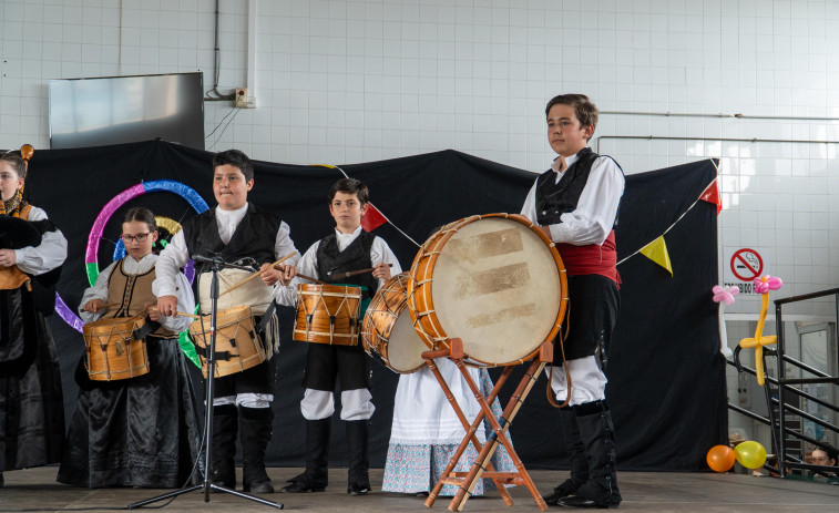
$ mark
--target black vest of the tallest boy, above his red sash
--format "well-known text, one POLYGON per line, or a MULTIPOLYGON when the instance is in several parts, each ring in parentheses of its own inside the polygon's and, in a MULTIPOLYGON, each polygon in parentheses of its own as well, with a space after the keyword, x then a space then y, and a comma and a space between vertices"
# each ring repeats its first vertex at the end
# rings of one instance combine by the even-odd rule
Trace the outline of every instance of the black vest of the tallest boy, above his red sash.
MULTIPOLYGON (((576 208, 583 188, 589 182, 592 165, 600 155, 586 146, 576 156, 577 160, 562 173, 559 182, 554 183, 556 173, 553 170, 548 170, 536 178, 536 223, 540 226, 562 223, 560 219, 562 214, 574 212, 576 208)), ((621 170, 621 166, 618 165, 617 168, 621 170)), ((617 226, 617 213, 615 213, 614 226, 617 226)))

